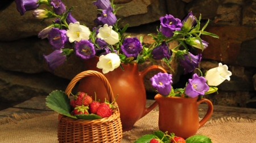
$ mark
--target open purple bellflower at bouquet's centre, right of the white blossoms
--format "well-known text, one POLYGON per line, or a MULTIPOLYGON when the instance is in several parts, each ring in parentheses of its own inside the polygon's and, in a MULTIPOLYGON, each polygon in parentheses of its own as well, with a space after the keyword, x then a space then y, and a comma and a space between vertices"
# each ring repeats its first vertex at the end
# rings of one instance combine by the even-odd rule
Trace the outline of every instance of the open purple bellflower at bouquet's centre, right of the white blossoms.
POLYGON ((139 42, 137 37, 125 38, 123 40, 121 50, 123 51, 123 54, 125 54, 127 58, 137 57, 142 50, 142 44, 141 42, 139 42))

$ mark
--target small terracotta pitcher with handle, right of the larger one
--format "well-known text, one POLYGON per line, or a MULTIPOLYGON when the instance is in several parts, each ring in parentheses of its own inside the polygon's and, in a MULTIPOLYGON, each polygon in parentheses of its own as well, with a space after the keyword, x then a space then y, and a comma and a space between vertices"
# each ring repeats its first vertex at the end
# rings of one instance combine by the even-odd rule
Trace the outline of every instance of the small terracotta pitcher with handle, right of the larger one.
POLYGON ((212 116, 213 105, 209 99, 184 97, 163 97, 156 94, 155 100, 159 105, 160 131, 174 133, 175 136, 188 138, 196 134, 197 130, 202 127, 210 116, 212 116), (208 111, 204 118, 199 121, 197 107, 200 103, 207 103, 208 111))

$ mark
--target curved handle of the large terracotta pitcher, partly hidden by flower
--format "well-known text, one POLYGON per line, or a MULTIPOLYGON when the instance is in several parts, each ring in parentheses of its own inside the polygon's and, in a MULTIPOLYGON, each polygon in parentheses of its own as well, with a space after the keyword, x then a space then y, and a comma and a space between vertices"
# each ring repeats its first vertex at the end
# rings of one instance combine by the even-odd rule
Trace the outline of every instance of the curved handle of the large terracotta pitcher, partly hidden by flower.
MULTIPOLYGON (((153 66, 147 67, 145 70, 139 72, 139 75, 140 75, 140 76, 142 77, 142 79, 143 79, 143 77, 146 75, 146 73, 149 72, 149 71, 152 71, 152 70, 160 70, 160 71, 162 71, 162 72, 164 72, 164 73, 167 73, 166 70, 165 70, 163 67, 157 66, 157 65, 153 65, 153 66)), ((149 107, 147 107, 147 108, 145 107, 144 112, 143 112, 141 118, 142 118, 143 116, 147 115, 148 112, 150 112, 151 110, 153 110, 157 105, 158 105, 158 102, 155 101, 155 102, 152 103, 152 105, 150 105, 149 107)))

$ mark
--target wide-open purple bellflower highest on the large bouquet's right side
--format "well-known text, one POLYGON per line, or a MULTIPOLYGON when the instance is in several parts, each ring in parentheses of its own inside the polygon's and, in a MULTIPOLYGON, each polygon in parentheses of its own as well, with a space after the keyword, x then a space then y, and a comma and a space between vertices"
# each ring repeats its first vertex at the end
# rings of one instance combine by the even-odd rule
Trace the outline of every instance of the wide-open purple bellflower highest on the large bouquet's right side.
POLYGON ((182 23, 180 19, 174 18, 172 15, 166 15, 160 18, 161 28, 159 31, 166 37, 174 36, 175 31, 180 31, 182 23))

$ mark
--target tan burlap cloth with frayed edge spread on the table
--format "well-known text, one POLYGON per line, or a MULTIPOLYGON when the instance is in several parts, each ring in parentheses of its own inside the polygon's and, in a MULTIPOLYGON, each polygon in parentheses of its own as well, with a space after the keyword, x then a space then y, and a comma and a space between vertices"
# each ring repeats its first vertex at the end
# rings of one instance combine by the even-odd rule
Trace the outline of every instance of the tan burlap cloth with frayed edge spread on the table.
MULTIPOLYGON (((23 120, 0 120, 2 143, 57 143, 57 114, 39 117, 28 116, 23 120), (32 119, 29 119, 32 118, 32 119)), ((16 118, 19 118, 16 116, 16 118)), ((22 119, 22 118, 20 118, 22 119)), ((158 130, 158 111, 151 111, 135 123, 131 131, 123 133, 122 143, 134 142, 137 138, 158 130)), ((255 143, 255 120, 224 118, 207 122, 197 132, 212 139, 213 143, 255 143)))

